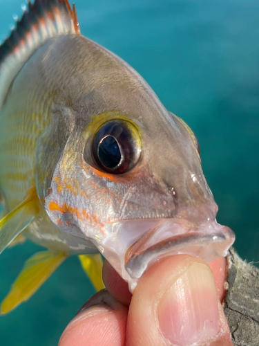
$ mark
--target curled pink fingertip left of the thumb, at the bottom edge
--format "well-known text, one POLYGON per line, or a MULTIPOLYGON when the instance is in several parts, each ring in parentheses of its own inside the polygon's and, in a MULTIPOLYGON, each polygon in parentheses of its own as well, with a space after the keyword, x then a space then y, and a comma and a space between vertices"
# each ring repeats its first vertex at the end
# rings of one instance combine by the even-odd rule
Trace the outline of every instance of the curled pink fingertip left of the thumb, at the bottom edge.
POLYGON ((99 291, 68 324, 59 346, 125 346, 127 313, 108 291, 99 291))

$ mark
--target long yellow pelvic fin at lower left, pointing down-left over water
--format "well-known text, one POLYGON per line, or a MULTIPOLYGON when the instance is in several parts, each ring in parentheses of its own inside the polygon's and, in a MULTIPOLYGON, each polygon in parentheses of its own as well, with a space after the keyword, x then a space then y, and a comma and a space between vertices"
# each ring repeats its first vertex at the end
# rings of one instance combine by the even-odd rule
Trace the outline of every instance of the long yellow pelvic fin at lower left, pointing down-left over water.
POLYGON ((1 313, 8 313, 21 302, 28 300, 65 259, 64 253, 57 255, 49 251, 41 251, 30 257, 4 298, 1 313))

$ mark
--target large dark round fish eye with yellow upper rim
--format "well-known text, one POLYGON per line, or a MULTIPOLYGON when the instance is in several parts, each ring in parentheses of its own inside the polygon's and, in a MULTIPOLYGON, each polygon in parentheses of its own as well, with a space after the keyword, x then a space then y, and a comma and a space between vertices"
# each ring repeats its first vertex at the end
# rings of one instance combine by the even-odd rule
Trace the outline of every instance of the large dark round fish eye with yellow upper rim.
POLYGON ((122 174, 131 170, 141 154, 140 134, 127 120, 111 120, 100 127, 92 142, 92 155, 97 166, 108 173, 122 174))

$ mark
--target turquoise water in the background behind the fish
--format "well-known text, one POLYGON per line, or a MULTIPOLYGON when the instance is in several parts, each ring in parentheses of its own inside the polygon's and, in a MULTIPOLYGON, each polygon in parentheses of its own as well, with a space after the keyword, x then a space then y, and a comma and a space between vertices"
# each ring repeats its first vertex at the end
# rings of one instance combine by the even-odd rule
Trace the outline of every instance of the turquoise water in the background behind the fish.
MULTIPOLYGON (((165 107, 200 140, 218 221, 236 248, 259 260, 259 5, 251 0, 75 0, 81 33, 131 64, 165 107)), ((0 37, 21 0, 0 0, 0 37)), ((0 257, 0 299, 39 247, 0 257)), ((0 318, 0 345, 57 345, 93 294, 77 258, 68 259, 26 304, 0 318)))

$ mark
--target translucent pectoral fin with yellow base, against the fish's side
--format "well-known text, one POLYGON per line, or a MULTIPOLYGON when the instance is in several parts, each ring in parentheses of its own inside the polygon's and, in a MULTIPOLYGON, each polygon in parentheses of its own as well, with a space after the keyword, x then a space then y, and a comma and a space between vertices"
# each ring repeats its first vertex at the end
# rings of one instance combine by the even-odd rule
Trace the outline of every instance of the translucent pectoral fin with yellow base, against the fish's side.
POLYGON ((30 224, 37 212, 39 199, 35 186, 32 186, 24 201, 0 220, 0 253, 30 224))

